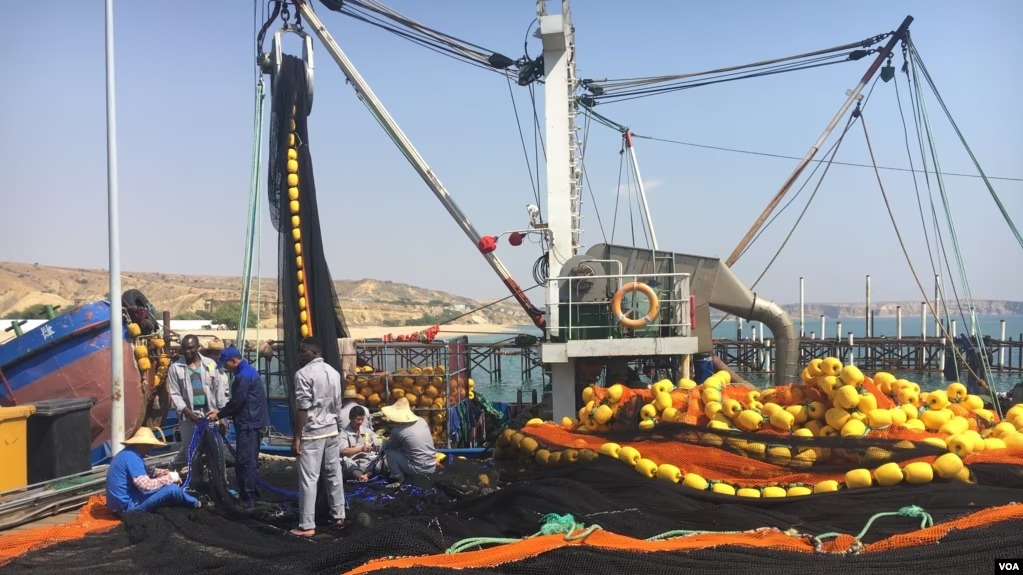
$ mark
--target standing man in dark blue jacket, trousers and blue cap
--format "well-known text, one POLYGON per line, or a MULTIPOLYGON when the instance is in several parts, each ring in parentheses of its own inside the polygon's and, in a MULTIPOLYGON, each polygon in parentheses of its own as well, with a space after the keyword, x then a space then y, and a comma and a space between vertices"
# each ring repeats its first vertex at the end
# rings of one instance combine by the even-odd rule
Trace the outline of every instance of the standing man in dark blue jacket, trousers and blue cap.
POLYGON ((218 369, 234 373, 231 399, 219 411, 211 412, 211 422, 234 419, 234 475, 238 480, 241 503, 251 507, 259 498, 256 485, 260 436, 270 426, 266 406, 266 386, 259 371, 241 358, 241 352, 229 346, 220 353, 218 369))

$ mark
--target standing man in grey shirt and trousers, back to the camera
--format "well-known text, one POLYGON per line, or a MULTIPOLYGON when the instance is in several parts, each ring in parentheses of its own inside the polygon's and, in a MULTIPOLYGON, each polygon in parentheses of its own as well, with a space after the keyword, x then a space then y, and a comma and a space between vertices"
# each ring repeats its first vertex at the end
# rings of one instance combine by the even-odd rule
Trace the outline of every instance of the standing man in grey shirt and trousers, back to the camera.
POLYGON ((341 472, 341 373, 323 361, 323 347, 314 338, 302 340, 295 374, 295 440, 299 458, 299 528, 303 537, 316 534, 316 487, 323 474, 330 518, 345 524, 345 488, 341 472))

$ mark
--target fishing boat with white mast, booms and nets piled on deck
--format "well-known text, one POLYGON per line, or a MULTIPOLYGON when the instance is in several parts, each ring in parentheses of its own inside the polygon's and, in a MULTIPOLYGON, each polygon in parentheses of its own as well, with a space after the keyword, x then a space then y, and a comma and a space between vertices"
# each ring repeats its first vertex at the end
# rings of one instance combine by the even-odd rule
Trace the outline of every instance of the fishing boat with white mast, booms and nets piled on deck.
MULTIPOLYGON (((353 6, 369 10, 441 37, 375 1, 323 4, 343 13, 353 6)), ((539 58, 517 63, 477 47, 477 61, 526 84, 541 78, 544 83, 546 217, 530 209, 529 225, 515 232, 536 234, 548 247, 538 265, 547 270, 540 274, 546 289, 541 308, 530 303, 497 258, 496 236, 479 233, 469 222, 311 2, 276 2, 258 42, 278 15, 283 25, 271 49, 263 52, 261 68, 272 82, 268 191, 280 239, 284 331, 275 357, 285 386, 297 368, 302 338, 350 339, 323 258, 312 177, 307 120, 315 36, 543 330, 549 413, 502 430, 485 466, 456 460, 422 484, 352 486, 351 527, 337 528, 331 522, 324 529, 326 540, 318 544, 285 539, 262 525, 236 523, 225 499, 228 512, 223 515, 193 510, 129 515, 130 535, 117 529, 97 532, 87 541, 30 554, 12 566, 57 572, 58 564, 73 560, 96 571, 129 565, 146 571, 173 564, 185 572, 225 567, 246 573, 588 574, 718 573, 755 563, 761 573, 946 573, 949 566, 979 571, 1000 555, 1023 556, 1023 540, 1014 536, 1023 527, 1023 508, 1015 503, 1023 477, 1023 411, 985 409, 959 384, 925 396, 913 382, 890 373, 864 374, 854 362, 802 358, 791 318, 729 269, 835 125, 847 115, 858 117, 862 89, 893 48, 901 42, 913 57, 906 34, 911 18, 872 37, 868 48, 842 48, 869 50, 855 59, 876 57, 819 141, 723 261, 663 250, 656 242, 650 248, 598 244, 581 249, 583 167, 573 124, 577 114, 596 117, 584 109, 588 96, 578 93, 568 0, 559 13, 548 13, 545 1, 537 4, 543 43, 539 58), (301 15, 294 21, 293 7, 301 15), (286 33, 303 39, 301 57, 282 53, 279 35, 286 33), (752 389, 713 364, 712 307, 771 327, 780 348, 773 386, 752 389), (650 388, 623 386, 629 383, 629 365, 637 361, 666 365, 672 377, 650 388), (188 536, 168 536, 175 529, 188 536), (343 537, 330 536, 338 534, 343 537), (491 548, 495 545, 500 550, 491 548)), ((590 87, 592 96, 605 90, 590 87)), ((262 90, 262 82, 257 89, 262 90)), ((250 225, 251 253, 252 220, 250 225)), ((247 290, 243 301, 248 297, 247 290)), ((324 359, 351 378, 346 386, 366 390, 359 394, 376 395, 380 402, 390 401, 398 390, 403 397, 411 393, 432 423, 434 410, 450 418, 456 412, 452 409, 475 399, 470 373, 452 377, 458 369, 451 369, 451 363, 417 361, 409 354, 404 364, 369 361, 352 370, 344 368, 344 346, 326 348, 324 359), (434 391, 427 393, 431 387, 434 391), (437 399, 440 406, 435 407, 437 399)), ((294 462, 278 462, 284 472, 280 475, 272 476, 269 465, 262 470, 267 485, 288 477, 294 481, 294 462)), ((281 504, 274 513, 284 508, 281 504)), ((237 513, 268 523, 280 517, 237 513)))

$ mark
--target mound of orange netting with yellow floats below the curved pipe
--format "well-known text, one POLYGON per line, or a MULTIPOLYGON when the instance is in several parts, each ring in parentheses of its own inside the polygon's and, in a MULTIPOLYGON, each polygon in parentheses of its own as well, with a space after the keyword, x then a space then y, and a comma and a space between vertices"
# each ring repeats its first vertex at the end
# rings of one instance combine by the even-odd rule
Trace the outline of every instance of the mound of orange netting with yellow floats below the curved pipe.
POLYGON ((835 357, 810 361, 801 379, 764 390, 725 371, 700 385, 590 386, 578 418, 505 430, 495 458, 513 451, 543 466, 602 453, 651 478, 750 497, 975 483, 971 463, 1023 466, 1023 405, 1002 421, 962 384, 922 392, 835 357))

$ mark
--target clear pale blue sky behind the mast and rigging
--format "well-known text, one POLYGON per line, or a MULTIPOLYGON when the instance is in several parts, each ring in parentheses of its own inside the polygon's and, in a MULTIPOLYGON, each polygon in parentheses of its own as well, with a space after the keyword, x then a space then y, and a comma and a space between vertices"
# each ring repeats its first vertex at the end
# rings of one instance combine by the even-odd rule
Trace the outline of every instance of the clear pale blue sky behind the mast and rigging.
MULTIPOLYGON (((388 4, 511 57, 522 55, 535 15, 532 0, 388 4)), ((2 53, 9 56, 0 90, 0 261, 105 267, 103 3, 18 6, 11 13, 17 25, 0 35, 2 53)), ((120 0, 116 6, 122 268, 238 274, 252 148, 253 4, 120 0)), ((533 192, 504 79, 316 7, 477 228, 486 234, 524 227, 533 192)), ((907 13, 916 17, 913 37, 924 61, 985 171, 1023 177, 1023 3, 1015 0, 579 0, 579 76, 697 72, 786 56, 891 31, 907 13)), ((529 50, 539 53, 539 41, 530 39, 529 50)), ((311 149, 335 277, 504 296, 476 248, 318 45, 316 58, 311 149)), ((899 54, 895 64, 901 63, 899 54)), ((609 103, 598 112, 638 134, 799 157, 868 65, 863 59, 609 103)), ((905 80, 898 78, 907 105, 905 80)), ((515 91, 529 120, 529 93, 518 86, 515 91)), ((542 87, 537 93, 542 102, 542 87)), ((928 106, 943 169, 975 173, 936 102, 930 99, 928 106)), ((907 166, 892 84, 879 84, 866 118, 879 163, 907 166)), ((532 132, 525 129, 532 147, 532 132)), ((619 134, 603 127, 592 128, 588 140, 589 180, 608 235, 620 143, 619 134)), ((662 249, 722 258, 796 164, 650 140, 637 140, 636 149, 662 249)), ((860 130, 850 134, 838 160, 869 161, 860 130)), ((913 181, 894 172, 883 177, 930 289, 913 181)), ((960 177, 946 182, 974 296, 1023 299, 1023 251, 982 183, 960 177)), ((1023 226, 1023 182, 994 185, 1023 226)), ((747 282, 777 250, 809 191, 737 264, 747 282)), ((590 246, 603 238, 588 191, 585 201, 584 242, 590 246)), ((265 198, 260 215, 262 273, 273 275, 276 242, 265 198)), ((617 242, 631 241, 628 228, 623 204, 617 242)), ((945 242, 950 250, 947 237, 945 242)), ((535 246, 502 242, 498 255, 523 285, 533 283, 535 246)), ((948 257, 954 266, 954 255, 948 257)), ((873 171, 836 166, 757 291, 795 302, 798 277, 805 276, 808 301, 860 301, 865 274, 873 276, 875 300, 920 298, 873 171)), ((539 291, 533 294, 542 301, 539 291)))

